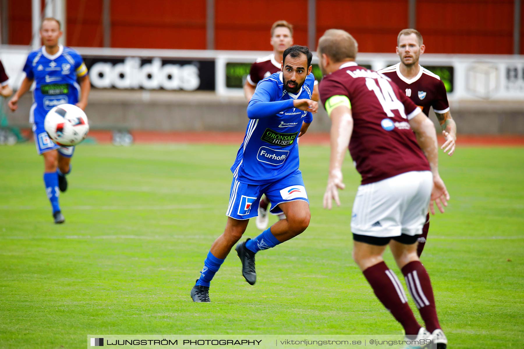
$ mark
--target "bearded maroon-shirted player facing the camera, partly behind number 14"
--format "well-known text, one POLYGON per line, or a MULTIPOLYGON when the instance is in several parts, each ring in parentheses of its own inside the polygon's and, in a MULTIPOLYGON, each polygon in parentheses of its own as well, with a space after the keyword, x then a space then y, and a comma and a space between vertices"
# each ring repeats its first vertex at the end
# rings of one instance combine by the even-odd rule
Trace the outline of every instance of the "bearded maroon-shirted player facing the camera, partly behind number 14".
MULTIPOLYGON (((397 54, 400 63, 379 70, 397 84, 400 90, 409 97, 414 104, 429 116, 429 109, 433 107, 436 117, 442 127, 442 135, 446 139, 441 149, 444 153, 453 155, 457 139, 457 127, 450 114, 450 105, 447 102, 446 88, 440 77, 433 74, 419 64, 419 57, 424 53, 425 46, 422 35, 415 29, 403 29, 397 37, 397 54)), ((420 257, 428 238, 429 214, 419 238, 417 253, 420 257)))

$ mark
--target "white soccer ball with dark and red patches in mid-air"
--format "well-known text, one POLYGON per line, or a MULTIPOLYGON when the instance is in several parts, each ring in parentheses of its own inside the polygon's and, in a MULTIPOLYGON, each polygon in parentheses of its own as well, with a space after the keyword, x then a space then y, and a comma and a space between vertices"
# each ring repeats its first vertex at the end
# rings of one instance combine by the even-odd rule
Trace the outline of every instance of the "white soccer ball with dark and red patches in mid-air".
POLYGON ((82 142, 89 131, 85 112, 72 104, 61 104, 49 110, 43 127, 54 143, 65 147, 82 142))

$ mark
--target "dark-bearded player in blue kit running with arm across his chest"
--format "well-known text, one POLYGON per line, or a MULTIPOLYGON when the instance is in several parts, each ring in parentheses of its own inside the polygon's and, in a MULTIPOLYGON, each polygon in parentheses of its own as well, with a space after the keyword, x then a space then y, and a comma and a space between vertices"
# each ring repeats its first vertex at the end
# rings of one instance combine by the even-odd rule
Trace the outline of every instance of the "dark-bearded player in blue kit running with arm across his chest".
POLYGON ((274 203, 272 213, 285 213, 255 239, 236 246, 242 275, 256 281, 255 253, 296 237, 309 225, 308 195, 299 168, 297 138, 313 121, 318 103, 311 100, 314 76, 312 53, 305 46, 291 46, 282 54, 281 72, 261 80, 247 106, 246 136, 231 166, 230 202, 224 233, 215 240, 204 261, 200 279, 191 290, 194 302, 209 302, 211 279, 225 257, 246 231, 249 218, 258 215, 262 194, 274 203))

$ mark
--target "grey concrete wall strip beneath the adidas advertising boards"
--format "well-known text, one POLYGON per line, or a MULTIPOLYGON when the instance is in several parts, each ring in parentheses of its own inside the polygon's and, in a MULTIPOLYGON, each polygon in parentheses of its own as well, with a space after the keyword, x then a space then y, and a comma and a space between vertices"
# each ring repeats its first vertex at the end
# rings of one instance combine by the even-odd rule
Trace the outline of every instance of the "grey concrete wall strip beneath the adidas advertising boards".
MULTIPOLYGON (((16 113, 6 111, 9 125, 29 127, 29 94, 19 104, 16 113)), ((93 90, 86 114, 92 129, 244 131, 246 106, 242 97, 217 97, 210 92, 93 90)), ((455 102, 451 114, 461 134, 524 135, 524 100, 455 102)), ((430 117, 438 126, 432 111, 430 117)), ((322 109, 309 131, 327 132, 329 127, 322 109)))

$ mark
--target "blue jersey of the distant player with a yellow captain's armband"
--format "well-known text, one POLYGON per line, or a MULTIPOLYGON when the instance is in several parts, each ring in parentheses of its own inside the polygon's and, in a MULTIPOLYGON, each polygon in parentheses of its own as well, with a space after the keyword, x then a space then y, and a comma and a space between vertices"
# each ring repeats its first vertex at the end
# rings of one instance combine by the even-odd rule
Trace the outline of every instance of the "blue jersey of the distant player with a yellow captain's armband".
POLYGON ((78 103, 77 77, 85 76, 88 69, 77 51, 60 45, 54 55, 47 53, 43 46, 29 53, 24 72, 36 83, 29 121, 40 123, 54 106, 78 103))

